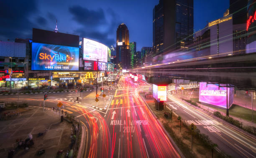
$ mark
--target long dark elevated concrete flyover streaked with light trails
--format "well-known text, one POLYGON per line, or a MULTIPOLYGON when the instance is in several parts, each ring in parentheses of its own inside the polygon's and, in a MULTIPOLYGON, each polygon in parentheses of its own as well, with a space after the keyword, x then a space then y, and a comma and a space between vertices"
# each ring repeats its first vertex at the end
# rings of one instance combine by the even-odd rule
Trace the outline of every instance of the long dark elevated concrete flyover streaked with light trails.
POLYGON ((147 77, 171 77, 231 84, 240 89, 256 89, 256 53, 217 58, 195 58, 132 69, 147 77))

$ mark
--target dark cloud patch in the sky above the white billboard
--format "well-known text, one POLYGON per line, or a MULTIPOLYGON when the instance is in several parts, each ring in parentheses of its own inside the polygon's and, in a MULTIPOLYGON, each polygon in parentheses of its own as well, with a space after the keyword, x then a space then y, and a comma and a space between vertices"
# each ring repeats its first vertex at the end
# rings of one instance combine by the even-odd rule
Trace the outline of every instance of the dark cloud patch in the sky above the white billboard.
POLYGON ((105 24, 105 15, 103 10, 88 10, 87 8, 74 5, 69 7, 69 12, 73 15, 73 20, 82 25, 102 25, 105 24))

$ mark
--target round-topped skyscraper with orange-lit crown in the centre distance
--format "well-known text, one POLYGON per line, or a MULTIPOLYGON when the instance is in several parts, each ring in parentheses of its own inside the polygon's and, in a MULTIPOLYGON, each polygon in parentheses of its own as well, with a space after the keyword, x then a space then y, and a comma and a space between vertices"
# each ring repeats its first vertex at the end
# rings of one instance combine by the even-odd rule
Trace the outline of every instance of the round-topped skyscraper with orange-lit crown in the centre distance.
POLYGON ((131 68, 129 30, 124 23, 116 30, 116 64, 120 64, 123 69, 131 68))

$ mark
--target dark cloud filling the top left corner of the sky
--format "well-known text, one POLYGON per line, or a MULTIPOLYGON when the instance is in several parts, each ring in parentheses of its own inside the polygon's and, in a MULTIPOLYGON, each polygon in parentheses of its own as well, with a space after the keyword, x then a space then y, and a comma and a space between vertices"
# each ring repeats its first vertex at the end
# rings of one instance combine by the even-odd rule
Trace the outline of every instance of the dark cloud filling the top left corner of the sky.
POLYGON ((0 35, 6 39, 31 38, 32 27, 29 19, 38 12, 35 0, 2 0, 0 2, 0 35))

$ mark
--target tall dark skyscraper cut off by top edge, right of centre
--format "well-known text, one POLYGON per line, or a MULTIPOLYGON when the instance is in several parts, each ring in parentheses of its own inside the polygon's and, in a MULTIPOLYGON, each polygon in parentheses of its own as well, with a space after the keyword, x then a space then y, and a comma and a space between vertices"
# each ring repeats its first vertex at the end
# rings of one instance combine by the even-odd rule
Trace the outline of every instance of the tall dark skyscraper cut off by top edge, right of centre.
POLYGON ((193 43, 193 0, 159 0, 153 10, 153 51, 184 49, 193 43))

